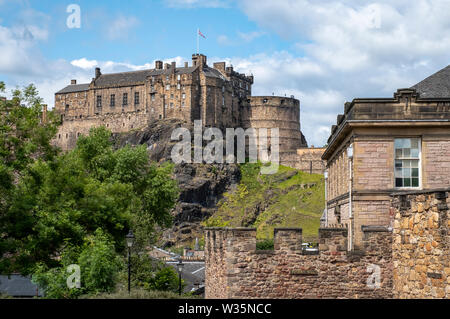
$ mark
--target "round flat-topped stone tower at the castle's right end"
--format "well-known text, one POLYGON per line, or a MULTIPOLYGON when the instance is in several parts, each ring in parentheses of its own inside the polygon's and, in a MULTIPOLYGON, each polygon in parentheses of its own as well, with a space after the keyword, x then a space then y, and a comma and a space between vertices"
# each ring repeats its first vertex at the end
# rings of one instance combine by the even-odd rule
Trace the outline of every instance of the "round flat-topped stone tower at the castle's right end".
POLYGON ((270 132, 270 128, 279 128, 280 152, 306 147, 300 131, 299 100, 281 96, 250 96, 241 112, 244 129, 267 128, 270 132))

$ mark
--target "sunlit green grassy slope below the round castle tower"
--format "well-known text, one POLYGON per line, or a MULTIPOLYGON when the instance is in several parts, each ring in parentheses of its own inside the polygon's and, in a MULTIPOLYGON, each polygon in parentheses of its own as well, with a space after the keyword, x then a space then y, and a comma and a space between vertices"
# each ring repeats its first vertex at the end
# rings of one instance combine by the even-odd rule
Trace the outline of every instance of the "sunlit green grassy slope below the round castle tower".
POLYGON ((300 227, 303 241, 317 241, 325 207, 324 178, 280 166, 273 175, 261 175, 260 163, 242 164, 237 188, 225 193, 218 210, 204 222, 209 227, 255 227, 257 238, 273 238, 275 227, 300 227), (315 184, 302 188, 306 184, 315 184))

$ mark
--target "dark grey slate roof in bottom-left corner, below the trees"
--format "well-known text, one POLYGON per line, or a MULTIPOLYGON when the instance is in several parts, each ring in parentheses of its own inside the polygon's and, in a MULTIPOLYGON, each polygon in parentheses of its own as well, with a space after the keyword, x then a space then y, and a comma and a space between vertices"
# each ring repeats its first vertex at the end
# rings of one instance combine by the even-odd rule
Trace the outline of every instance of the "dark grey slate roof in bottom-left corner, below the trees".
POLYGON ((37 289, 30 278, 18 274, 13 274, 10 278, 0 275, 0 293, 13 297, 34 297, 36 294, 42 296, 42 291, 37 289))

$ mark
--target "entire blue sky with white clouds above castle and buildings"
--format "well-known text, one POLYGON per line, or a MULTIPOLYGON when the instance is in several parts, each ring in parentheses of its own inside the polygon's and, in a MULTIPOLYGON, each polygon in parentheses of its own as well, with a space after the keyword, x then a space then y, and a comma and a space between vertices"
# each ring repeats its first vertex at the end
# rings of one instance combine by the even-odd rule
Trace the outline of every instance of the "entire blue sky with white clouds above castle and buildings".
POLYGON ((45 102, 70 79, 182 63, 196 51, 255 76, 255 95, 294 95, 309 144, 345 101, 391 97, 450 62, 448 0, 0 0, 0 81, 45 102), (66 25, 81 8, 81 28, 66 25))

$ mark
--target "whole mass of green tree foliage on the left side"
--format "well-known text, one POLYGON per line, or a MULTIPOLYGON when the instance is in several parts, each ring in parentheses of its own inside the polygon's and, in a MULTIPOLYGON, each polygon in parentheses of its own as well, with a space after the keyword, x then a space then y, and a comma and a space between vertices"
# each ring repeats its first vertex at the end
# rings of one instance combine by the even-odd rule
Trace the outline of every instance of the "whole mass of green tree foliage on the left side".
POLYGON ((52 112, 41 121, 41 102, 32 85, 0 101, 0 272, 58 267, 98 229, 116 252, 129 229, 137 247, 149 245, 155 225, 171 223, 172 165, 150 163, 144 145, 115 149, 104 127, 59 152, 58 122, 52 112))

